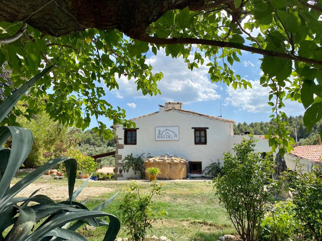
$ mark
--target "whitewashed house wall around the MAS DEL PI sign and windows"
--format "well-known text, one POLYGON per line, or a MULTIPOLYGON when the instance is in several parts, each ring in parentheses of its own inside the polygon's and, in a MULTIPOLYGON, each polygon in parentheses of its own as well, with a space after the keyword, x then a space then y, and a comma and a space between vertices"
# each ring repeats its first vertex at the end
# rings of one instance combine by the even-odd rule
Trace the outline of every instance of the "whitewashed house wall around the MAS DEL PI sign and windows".
MULTIPOLYGON (((173 155, 180 156, 188 161, 201 161, 202 169, 211 164, 211 160, 221 162, 223 152, 231 151, 234 143, 240 142, 242 136, 233 136, 233 123, 215 120, 191 113, 183 113, 177 110, 160 111, 154 115, 146 116, 134 121, 137 129, 137 144, 124 145, 123 149, 118 149, 117 154, 122 155, 122 159, 128 154, 140 155, 150 153, 152 156, 173 155), (179 126, 179 140, 155 140, 155 127, 157 126, 179 126), (208 127, 207 144, 194 144, 194 129, 192 127, 208 127)), ((118 144, 124 144, 124 130, 122 125, 117 126, 116 135, 118 144)), ((268 142, 259 139, 256 147, 258 151, 268 152, 270 147, 268 142)), ((117 180, 127 180, 128 177, 139 177, 133 171, 126 173, 117 180)), ((194 174, 192 176, 201 176, 194 174)))

